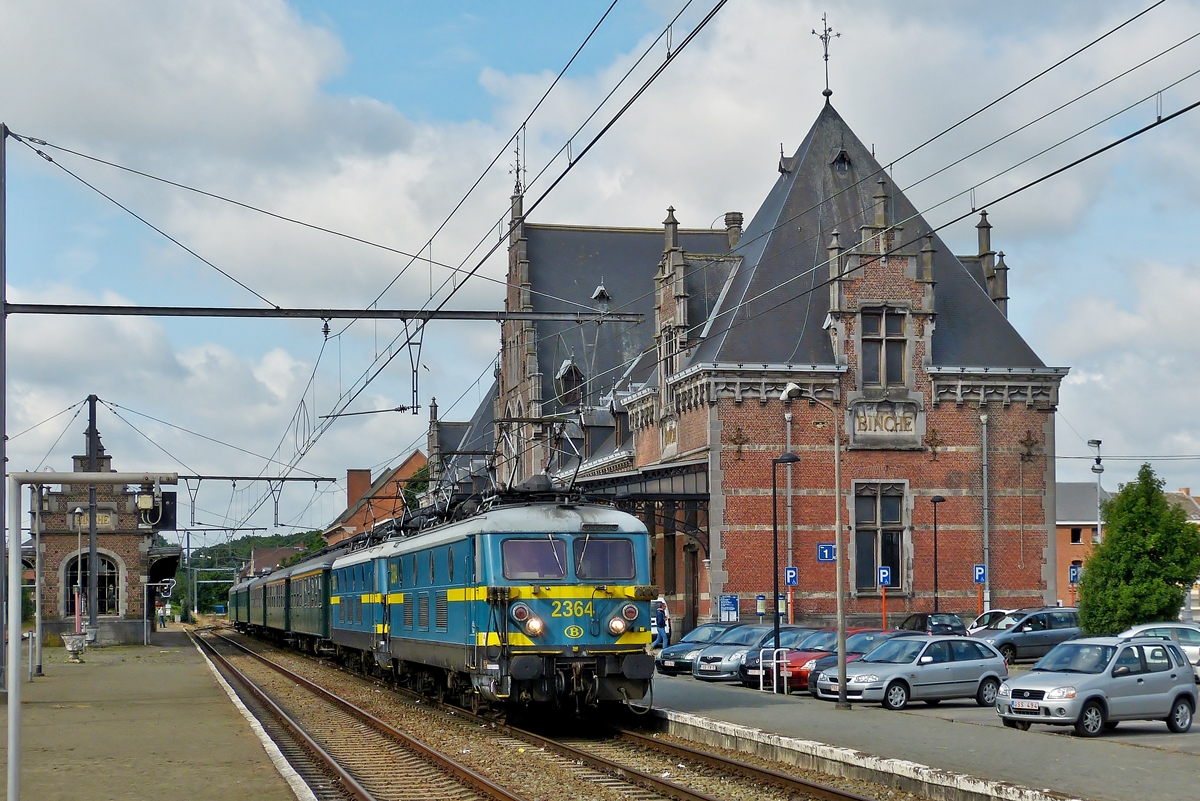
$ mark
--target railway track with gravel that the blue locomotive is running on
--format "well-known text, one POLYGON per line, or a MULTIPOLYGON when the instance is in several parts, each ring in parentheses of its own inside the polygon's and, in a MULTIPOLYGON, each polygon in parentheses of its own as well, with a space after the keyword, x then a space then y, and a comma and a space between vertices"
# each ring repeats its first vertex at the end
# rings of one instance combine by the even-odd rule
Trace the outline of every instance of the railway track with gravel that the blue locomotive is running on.
MULTIPOLYGON (((253 656, 276 670, 287 670, 275 660, 256 649, 235 640, 223 640, 253 656)), ((287 654, 289 657, 300 655, 287 654)), ((288 671, 290 673, 290 671, 288 671)), ((346 676, 344 673, 338 673, 346 676)), ((354 681, 361 686, 359 676, 354 681)), ((380 685, 383 686, 383 685, 380 685)), ((701 751, 689 746, 649 737, 624 729, 606 729, 593 736, 544 736, 524 729, 509 727, 494 719, 472 715, 456 706, 438 704, 426 697, 402 688, 392 688, 408 703, 418 705, 428 715, 439 715, 445 725, 460 727, 472 736, 481 734, 491 737, 505 753, 520 751, 521 746, 535 749, 540 760, 557 769, 575 773, 588 785, 604 788, 617 797, 650 801, 676 799, 678 801, 793 801, 820 799, 822 801, 874 801, 842 788, 752 765, 725 754, 701 751)), ((328 692, 328 691, 325 691, 328 692)), ((374 688, 373 692, 380 692, 374 688)), ((907 794, 881 788, 880 796, 892 799, 907 794)), ((876 797, 880 797, 876 796, 876 797)), ((570 797, 566 794, 564 797, 570 797)))

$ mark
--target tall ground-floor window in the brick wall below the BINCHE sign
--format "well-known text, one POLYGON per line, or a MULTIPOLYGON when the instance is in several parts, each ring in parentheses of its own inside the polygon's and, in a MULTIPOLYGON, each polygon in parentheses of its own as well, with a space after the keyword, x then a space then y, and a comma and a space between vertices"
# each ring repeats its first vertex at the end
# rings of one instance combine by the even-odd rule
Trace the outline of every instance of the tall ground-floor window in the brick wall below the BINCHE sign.
POLYGON ((904 589, 904 484, 858 484, 854 488, 854 586, 878 589, 878 567, 889 567, 888 589, 904 589))

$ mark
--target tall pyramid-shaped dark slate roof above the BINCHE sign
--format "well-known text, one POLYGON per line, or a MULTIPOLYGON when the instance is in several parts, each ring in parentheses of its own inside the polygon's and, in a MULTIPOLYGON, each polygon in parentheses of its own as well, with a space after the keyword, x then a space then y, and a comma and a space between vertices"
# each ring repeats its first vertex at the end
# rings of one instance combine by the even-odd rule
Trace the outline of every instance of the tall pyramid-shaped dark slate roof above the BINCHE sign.
MULTIPOLYGON (((832 365, 833 348, 822 330, 829 291, 823 265, 834 229, 850 249, 859 227, 875 222, 872 195, 882 167, 833 106, 821 109, 796 156, 781 174, 736 249, 742 266, 708 338, 691 363, 832 365), (834 169, 840 151, 845 174, 834 169), (797 230, 799 229, 799 230, 797 230), (814 265, 821 265, 812 273, 814 265), (798 278, 796 278, 799 276, 798 278), (782 288, 785 281, 796 278, 782 288), (762 295, 760 297, 760 295, 762 295)), ((901 227, 904 248, 916 254, 929 224, 888 181, 888 219, 901 227)), ((932 363, 940 367, 1043 367, 1037 354, 988 297, 978 281, 935 234, 936 329, 932 363)))

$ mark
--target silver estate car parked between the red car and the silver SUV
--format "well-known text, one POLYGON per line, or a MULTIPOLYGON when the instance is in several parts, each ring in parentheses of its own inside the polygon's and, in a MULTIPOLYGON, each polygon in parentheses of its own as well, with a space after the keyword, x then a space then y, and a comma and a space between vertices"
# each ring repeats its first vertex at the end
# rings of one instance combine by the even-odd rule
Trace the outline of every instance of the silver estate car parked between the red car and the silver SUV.
MULTIPOLYGON (((887 709, 904 709, 910 700, 937 704, 947 698, 974 698, 980 706, 991 706, 1007 677, 1004 658, 978 640, 896 637, 846 666, 846 698, 880 701, 887 709)), ((836 695, 838 675, 822 673, 817 692, 836 695)))

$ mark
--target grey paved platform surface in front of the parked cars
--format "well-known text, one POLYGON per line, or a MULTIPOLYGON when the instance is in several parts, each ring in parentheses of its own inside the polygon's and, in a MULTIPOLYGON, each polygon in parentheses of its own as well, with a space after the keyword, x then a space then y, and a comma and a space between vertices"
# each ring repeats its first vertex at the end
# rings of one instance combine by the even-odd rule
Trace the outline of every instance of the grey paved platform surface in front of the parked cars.
POLYGON ((1165 801, 1200 791, 1200 725, 1175 735, 1164 723, 1121 723, 1086 740, 1051 727, 1006 729, 995 710, 974 701, 917 703, 901 712, 856 704, 847 712, 808 693, 662 675, 654 679, 654 705, 1085 799, 1165 801))

